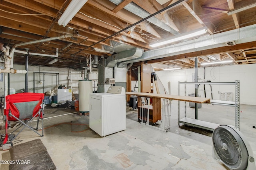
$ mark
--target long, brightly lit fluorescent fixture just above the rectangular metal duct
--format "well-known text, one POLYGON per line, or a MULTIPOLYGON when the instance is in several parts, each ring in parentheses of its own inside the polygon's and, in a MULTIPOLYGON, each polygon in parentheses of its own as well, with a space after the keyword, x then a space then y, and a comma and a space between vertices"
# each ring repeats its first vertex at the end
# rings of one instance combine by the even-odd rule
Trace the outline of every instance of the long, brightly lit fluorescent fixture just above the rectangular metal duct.
POLYGON ((176 41, 180 41, 182 39, 188 39, 188 38, 196 37, 196 36, 199 36, 199 35, 203 35, 205 33, 207 33, 206 28, 201 29, 201 30, 196 31, 196 32, 193 32, 193 33, 186 33, 186 34, 183 34, 183 35, 179 35, 179 36, 176 36, 176 38, 174 38, 174 39, 169 39, 167 41, 163 41, 163 42, 160 42, 160 43, 151 44, 149 46, 150 47, 158 47, 158 46, 161 46, 161 45, 165 45, 165 44, 173 43, 173 42, 176 42, 176 41))

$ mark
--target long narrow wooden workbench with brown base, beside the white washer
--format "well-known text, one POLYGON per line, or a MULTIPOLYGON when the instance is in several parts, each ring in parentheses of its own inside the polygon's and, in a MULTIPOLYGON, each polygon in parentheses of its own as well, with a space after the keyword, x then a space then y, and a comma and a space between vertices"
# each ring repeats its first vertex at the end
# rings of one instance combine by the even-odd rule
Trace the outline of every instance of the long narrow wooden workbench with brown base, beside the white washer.
MULTIPOLYGON (((184 102, 193 102, 193 103, 210 103, 210 98, 199 98, 192 96, 176 96, 176 95, 168 95, 168 94, 153 94, 153 93, 136 93, 136 92, 126 92, 127 95, 138 96, 138 119, 140 119, 140 107, 141 102, 140 99, 142 97, 152 98, 152 107, 150 107, 150 115, 149 120, 152 123, 161 120, 161 98, 169 99, 169 100, 180 100, 184 102)), ((142 109, 145 106, 142 107, 142 109)))

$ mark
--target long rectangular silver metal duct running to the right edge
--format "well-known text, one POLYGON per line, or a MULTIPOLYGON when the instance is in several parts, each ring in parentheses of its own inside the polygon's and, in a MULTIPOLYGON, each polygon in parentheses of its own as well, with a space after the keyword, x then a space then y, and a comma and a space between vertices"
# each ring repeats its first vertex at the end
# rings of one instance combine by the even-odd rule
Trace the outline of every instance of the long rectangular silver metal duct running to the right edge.
MULTIPOLYGON (((256 39, 256 24, 246 27, 199 37, 182 43, 168 45, 166 47, 146 51, 142 57, 124 61, 124 63, 135 63, 152 59, 171 57, 184 53, 192 53, 212 48, 225 47, 226 42, 234 41, 236 44, 248 43, 256 39)), ((191 56, 196 57, 196 56, 191 56)))

